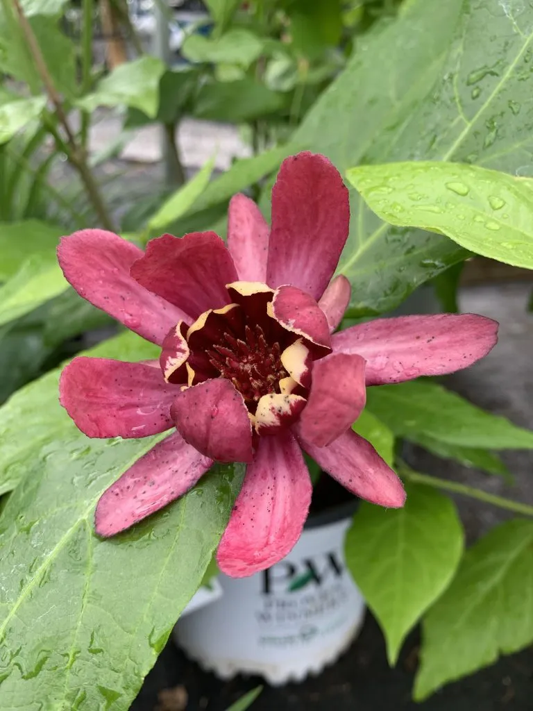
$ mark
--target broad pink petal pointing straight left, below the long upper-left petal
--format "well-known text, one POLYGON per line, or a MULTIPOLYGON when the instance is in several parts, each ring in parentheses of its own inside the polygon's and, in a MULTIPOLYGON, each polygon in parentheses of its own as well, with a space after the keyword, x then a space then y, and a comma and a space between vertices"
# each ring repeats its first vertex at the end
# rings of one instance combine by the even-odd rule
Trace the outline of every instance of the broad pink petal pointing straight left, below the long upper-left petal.
POLYGON ((159 368, 80 355, 63 368, 59 399, 87 437, 148 437, 172 427, 176 386, 159 368))

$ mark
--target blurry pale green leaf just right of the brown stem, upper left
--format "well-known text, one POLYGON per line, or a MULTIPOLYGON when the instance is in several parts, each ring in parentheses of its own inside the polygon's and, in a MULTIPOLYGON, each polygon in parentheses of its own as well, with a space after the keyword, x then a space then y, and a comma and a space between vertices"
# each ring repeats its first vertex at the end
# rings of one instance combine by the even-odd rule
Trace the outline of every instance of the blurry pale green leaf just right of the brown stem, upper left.
POLYGON ((77 106, 88 112, 98 106, 131 106, 154 118, 164 71, 163 62, 149 55, 122 64, 98 82, 95 92, 78 100, 77 106))

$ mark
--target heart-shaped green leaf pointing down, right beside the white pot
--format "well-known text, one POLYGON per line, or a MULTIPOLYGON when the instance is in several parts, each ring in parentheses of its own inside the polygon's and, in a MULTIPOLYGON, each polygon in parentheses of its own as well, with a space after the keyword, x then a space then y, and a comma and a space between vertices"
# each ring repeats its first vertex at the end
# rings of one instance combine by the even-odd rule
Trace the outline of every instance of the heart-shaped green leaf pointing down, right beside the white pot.
POLYGON ((404 508, 363 503, 345 542, 346 562, 387 639, 389 663, 456 572, 463 529, 450 498, 407 487, 404 508))

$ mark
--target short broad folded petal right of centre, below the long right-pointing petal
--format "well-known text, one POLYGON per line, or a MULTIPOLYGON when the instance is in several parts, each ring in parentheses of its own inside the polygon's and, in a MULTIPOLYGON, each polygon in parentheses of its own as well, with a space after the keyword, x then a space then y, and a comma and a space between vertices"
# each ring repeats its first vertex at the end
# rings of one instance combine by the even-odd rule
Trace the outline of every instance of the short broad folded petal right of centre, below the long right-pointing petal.
POLYGON ((365 407, 365 359, 332 353, 313 364, 313 384, 299 432, 306 442, 325 447, 346 432, 365 407))

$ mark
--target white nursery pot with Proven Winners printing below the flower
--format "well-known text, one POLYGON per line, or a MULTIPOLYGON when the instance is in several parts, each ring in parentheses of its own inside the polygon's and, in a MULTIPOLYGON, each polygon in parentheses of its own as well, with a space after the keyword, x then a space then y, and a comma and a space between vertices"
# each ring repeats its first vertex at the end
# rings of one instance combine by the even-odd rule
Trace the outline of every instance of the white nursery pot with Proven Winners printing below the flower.
POLYGON ((294 549, 269 570, 241 579, 220 574, 220 597, 178 621, 179 646, 222 678, 258 674, 271 684, 302 680, 333 663, 365 615, 345 565, 348 510, 352 504, 336 516, 311 517, 294 549))

